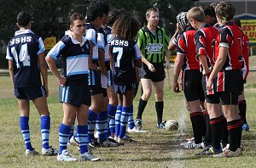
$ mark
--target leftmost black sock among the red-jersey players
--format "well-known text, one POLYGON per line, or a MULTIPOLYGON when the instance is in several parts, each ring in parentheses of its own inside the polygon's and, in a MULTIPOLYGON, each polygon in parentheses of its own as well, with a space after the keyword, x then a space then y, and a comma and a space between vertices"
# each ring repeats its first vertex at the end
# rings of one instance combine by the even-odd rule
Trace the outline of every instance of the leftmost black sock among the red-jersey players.
POLYGON ((194 132, 194 137, 195 137, 195 143, 201 143, 201 126, 203 126, 203 120, 201 117, 201 112, 193 112, 190 113, 190 120, 192 123, 192 128, 194 132))

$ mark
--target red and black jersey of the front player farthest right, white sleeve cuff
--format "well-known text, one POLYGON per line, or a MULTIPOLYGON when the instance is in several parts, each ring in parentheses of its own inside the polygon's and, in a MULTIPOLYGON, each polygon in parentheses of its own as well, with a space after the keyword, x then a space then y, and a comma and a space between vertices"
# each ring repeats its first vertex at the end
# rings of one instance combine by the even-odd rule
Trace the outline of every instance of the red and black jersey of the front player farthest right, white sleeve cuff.
POLYGON ((220 29, 215 42, 215 61, 218 59, 219 48, 229 48, 222 70, 241 69, 242 43, 243 33, 238 25, 228 22, 220 29))

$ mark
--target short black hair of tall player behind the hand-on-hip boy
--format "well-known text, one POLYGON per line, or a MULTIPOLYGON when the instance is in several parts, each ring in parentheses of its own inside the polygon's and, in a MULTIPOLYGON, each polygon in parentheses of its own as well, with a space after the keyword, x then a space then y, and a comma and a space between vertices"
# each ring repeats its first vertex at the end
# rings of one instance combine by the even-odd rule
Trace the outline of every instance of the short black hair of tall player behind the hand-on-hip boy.
POLYGON ((101 3, 91 3, 86 10, 86 20, 92 22, 96 20, 97 17, 103 17, 103 10, 101 3))

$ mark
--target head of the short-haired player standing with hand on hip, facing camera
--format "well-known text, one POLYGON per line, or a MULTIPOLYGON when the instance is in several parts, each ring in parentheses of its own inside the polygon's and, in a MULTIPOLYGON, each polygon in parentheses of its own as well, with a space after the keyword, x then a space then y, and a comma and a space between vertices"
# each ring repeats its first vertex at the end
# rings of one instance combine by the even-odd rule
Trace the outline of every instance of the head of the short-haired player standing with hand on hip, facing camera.
POLYGON ((70 30, 76 34, 83 36, 85 33, 85 19, 83 14, 74 13, 70 16, 70 30))

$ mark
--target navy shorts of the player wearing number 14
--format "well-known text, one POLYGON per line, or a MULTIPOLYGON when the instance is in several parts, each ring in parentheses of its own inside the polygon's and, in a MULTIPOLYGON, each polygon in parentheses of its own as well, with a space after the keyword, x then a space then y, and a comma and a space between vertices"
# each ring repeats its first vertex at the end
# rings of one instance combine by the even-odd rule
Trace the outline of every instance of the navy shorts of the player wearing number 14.
POLYGON ((45 96, 44 87, 16 87, 15 97, 18 99, 33 100, 45 96))

